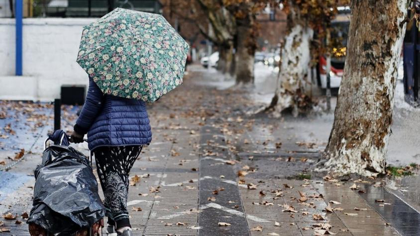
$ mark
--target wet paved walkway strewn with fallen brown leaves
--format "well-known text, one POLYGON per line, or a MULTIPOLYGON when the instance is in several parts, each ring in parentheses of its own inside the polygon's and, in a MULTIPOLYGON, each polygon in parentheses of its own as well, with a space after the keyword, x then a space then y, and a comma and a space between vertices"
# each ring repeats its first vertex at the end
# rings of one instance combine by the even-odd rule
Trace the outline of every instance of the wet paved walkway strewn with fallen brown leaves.
MULTIPOLYGON (((418 175, 334 179, 314 172, 326 140, 314 141, 311 133, 327 137, 329 130, 305 126, 312 117, 247 115, 258 108, 250 92, 208 85, 218 78, 192 66, 181 87, 149 107, 153 142, 131 171, 140 177, 128 199, 134 235, 420 234, 418 175)), ((20 149, 26 155, 0 171, 0 213, 23 222, 1 219, 0 229, 10 232, 0 235, 27 236, 20 215, 31 208, 52 106, 1 107, 0 126, 11 123, 11 131, 0 131, 8 137, 0 139, 0 168, 14 163, 20 149)), ((71 130, 77 109, 65 107, 64 129, 71 130)))

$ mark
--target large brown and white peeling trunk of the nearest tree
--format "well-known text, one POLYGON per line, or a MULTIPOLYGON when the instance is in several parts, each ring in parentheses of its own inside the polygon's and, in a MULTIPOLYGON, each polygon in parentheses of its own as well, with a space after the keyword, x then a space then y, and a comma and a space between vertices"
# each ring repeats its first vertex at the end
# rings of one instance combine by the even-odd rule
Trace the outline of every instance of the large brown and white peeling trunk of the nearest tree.
POLYGON ((407 0, 353 0, 347 58, 326 169, 343 175, 385 173, 407 0))

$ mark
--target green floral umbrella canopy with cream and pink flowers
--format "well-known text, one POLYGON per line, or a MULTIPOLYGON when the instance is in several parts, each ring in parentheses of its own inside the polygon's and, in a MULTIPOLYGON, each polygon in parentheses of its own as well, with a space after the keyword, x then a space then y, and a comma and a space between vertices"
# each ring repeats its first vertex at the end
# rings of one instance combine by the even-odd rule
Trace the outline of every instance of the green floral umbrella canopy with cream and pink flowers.
POLYGON ((77 62, 104 94, 153 102, 182 83, 189 47, 162 15, 116 8, 84 27, 77 62))

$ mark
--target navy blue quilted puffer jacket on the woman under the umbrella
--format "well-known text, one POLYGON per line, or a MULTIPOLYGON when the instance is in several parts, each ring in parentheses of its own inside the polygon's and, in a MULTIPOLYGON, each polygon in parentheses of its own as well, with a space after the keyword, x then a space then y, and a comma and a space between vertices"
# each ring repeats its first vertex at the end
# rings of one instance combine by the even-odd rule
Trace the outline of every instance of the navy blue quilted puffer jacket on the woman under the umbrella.
POLYGON ((144 145, 152 140, 145 102, 104 95, 93 79, 89 79, 88 95, 74 130, 88 134, 90 150, 144 145))

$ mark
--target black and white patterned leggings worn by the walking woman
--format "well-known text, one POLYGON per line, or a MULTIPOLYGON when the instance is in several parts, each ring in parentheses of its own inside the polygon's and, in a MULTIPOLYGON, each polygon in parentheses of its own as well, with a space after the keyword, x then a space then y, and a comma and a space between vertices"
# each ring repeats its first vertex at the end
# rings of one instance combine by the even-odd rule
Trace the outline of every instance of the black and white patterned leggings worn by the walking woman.
POLYGON ((128 219, 128 174, 143 146, 106 146, 94 150, 99 180, 104 191, 108 224, 131 227, 128 219))

